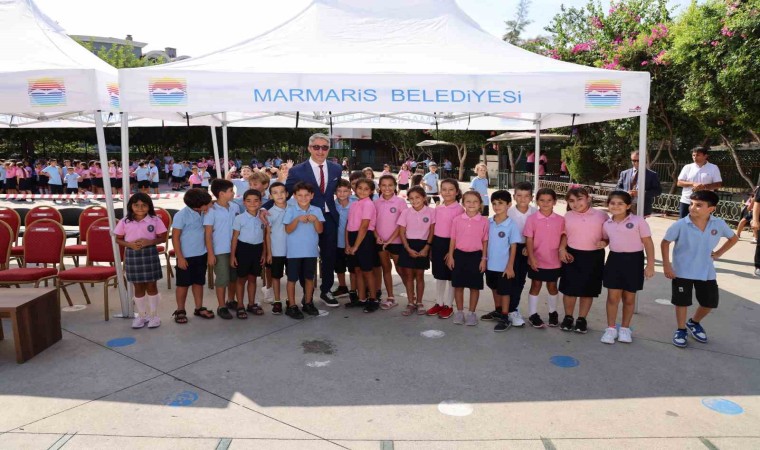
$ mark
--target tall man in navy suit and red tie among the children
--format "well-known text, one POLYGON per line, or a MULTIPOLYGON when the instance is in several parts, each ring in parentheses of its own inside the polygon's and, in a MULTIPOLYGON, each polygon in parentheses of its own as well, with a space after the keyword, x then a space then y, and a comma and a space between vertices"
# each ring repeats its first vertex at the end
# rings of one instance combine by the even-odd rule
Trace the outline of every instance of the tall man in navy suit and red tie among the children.
MULTIPOLYGON (((311 204, 320 208, 325 215, 322 234, 319 235, 319 271, 322 283, 319 298, 330 307, 340 306, 340 303, 330 292, 334 281, 335 253, 338 249, 338 211, 335 208, 335 189, 338 187, 343 169, 334 162, 327 161, 330 152, 329 136, 316 133, 309 138, 309 154, 311 157, 300 164, 291 167, 285 188, 289 195, 293 194, 296 183, 303 181, 314 186, 314 199, 311 204)), ((267 205, 264 205, 266 208, 267 205)))

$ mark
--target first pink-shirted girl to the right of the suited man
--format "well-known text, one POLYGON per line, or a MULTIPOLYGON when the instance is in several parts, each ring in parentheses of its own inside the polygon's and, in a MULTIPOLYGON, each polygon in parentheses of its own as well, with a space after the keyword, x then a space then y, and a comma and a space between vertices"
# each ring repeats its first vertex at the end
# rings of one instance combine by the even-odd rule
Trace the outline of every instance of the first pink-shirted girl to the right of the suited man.
MULTIPOLYGON (((356 198, 359 201, 351 203, 348 208, 348 223, 346 224, 346 255, 348 269, 356 273, 356 285, 359 296, 367 292, 375 293, 377 285, 372 269, 378 262, 377 248, 374 242, 375 221, 377 213, 375 204, 370 199, 375 192, 375 182, 367 178, 356 180, 356 198), (369 289, 369 291, 367 290, 369 289)), ((362 307, 364 312, 375 312, 380 308, 374 298, 365 298, 356 302, 346 303, 347 308, 362 307)))

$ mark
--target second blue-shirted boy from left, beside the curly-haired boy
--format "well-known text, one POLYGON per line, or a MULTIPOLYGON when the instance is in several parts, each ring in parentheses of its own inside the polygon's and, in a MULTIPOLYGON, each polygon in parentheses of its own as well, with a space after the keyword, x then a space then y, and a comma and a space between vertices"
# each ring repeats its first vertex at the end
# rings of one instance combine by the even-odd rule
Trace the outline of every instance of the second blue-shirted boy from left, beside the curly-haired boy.
POLYGON ((216 179, 211 183, 211 193, 216 202, 203 217, 205 241, 208 252, 208 265, 214 270, 214 287, 218 307, 216 314, 222 319, 232 319, 229 308, 237 311, 235 302, 235 284, 237 272, 230 266, 232 251, 232 223, 240 214, 238 205, 231 202, 235 196, 232 182, 216 179), (224 291, 227 290, 228 301, 224 301, 224 291))

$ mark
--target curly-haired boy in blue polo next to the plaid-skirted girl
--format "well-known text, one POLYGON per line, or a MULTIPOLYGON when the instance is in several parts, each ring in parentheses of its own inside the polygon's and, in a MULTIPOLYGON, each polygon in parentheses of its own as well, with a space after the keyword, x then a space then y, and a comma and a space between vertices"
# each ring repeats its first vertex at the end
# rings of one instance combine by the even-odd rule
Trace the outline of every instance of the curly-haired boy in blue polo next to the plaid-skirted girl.
POLYGON ((204 319, 213 319, 214 313, 203 306, 203 285, 206 283, 205 231, 203 215, 211 206, 211 195, 202 189, 190 189, 185 192, 185 207, 174 215, 172 224, 172 244, 177 255, 177 310, 174 321, 187 323, 185 302, 187 291, 192 287, 195 300, 194 315, 204 319))

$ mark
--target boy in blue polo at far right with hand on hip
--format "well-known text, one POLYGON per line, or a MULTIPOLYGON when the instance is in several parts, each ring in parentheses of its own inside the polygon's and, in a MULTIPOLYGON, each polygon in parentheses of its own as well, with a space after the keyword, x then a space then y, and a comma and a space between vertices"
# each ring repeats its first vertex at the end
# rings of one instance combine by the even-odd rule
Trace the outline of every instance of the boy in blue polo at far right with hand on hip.
POLYGON ((660 245, 665 276, 673 280, 671 303, 676 307, 678 322, 678 329, 673 334, 673 345, 676 347, 686 347, 687 333, 695 341, 707 343, 707 333, 701 322, 718 307, 718 283, 713 261, 723 256, 739 240, 726 222, 712 215, 718 204, 718 194, 695 191, 689 199, 689 215, 668 228, 660 245), (717 251, 713 250, 722 237, 728 241, 717 251), (672 264, 671 242, 675 242, 672 264), (687 322, 692 291, 695 291, 699 307, 687 322))

